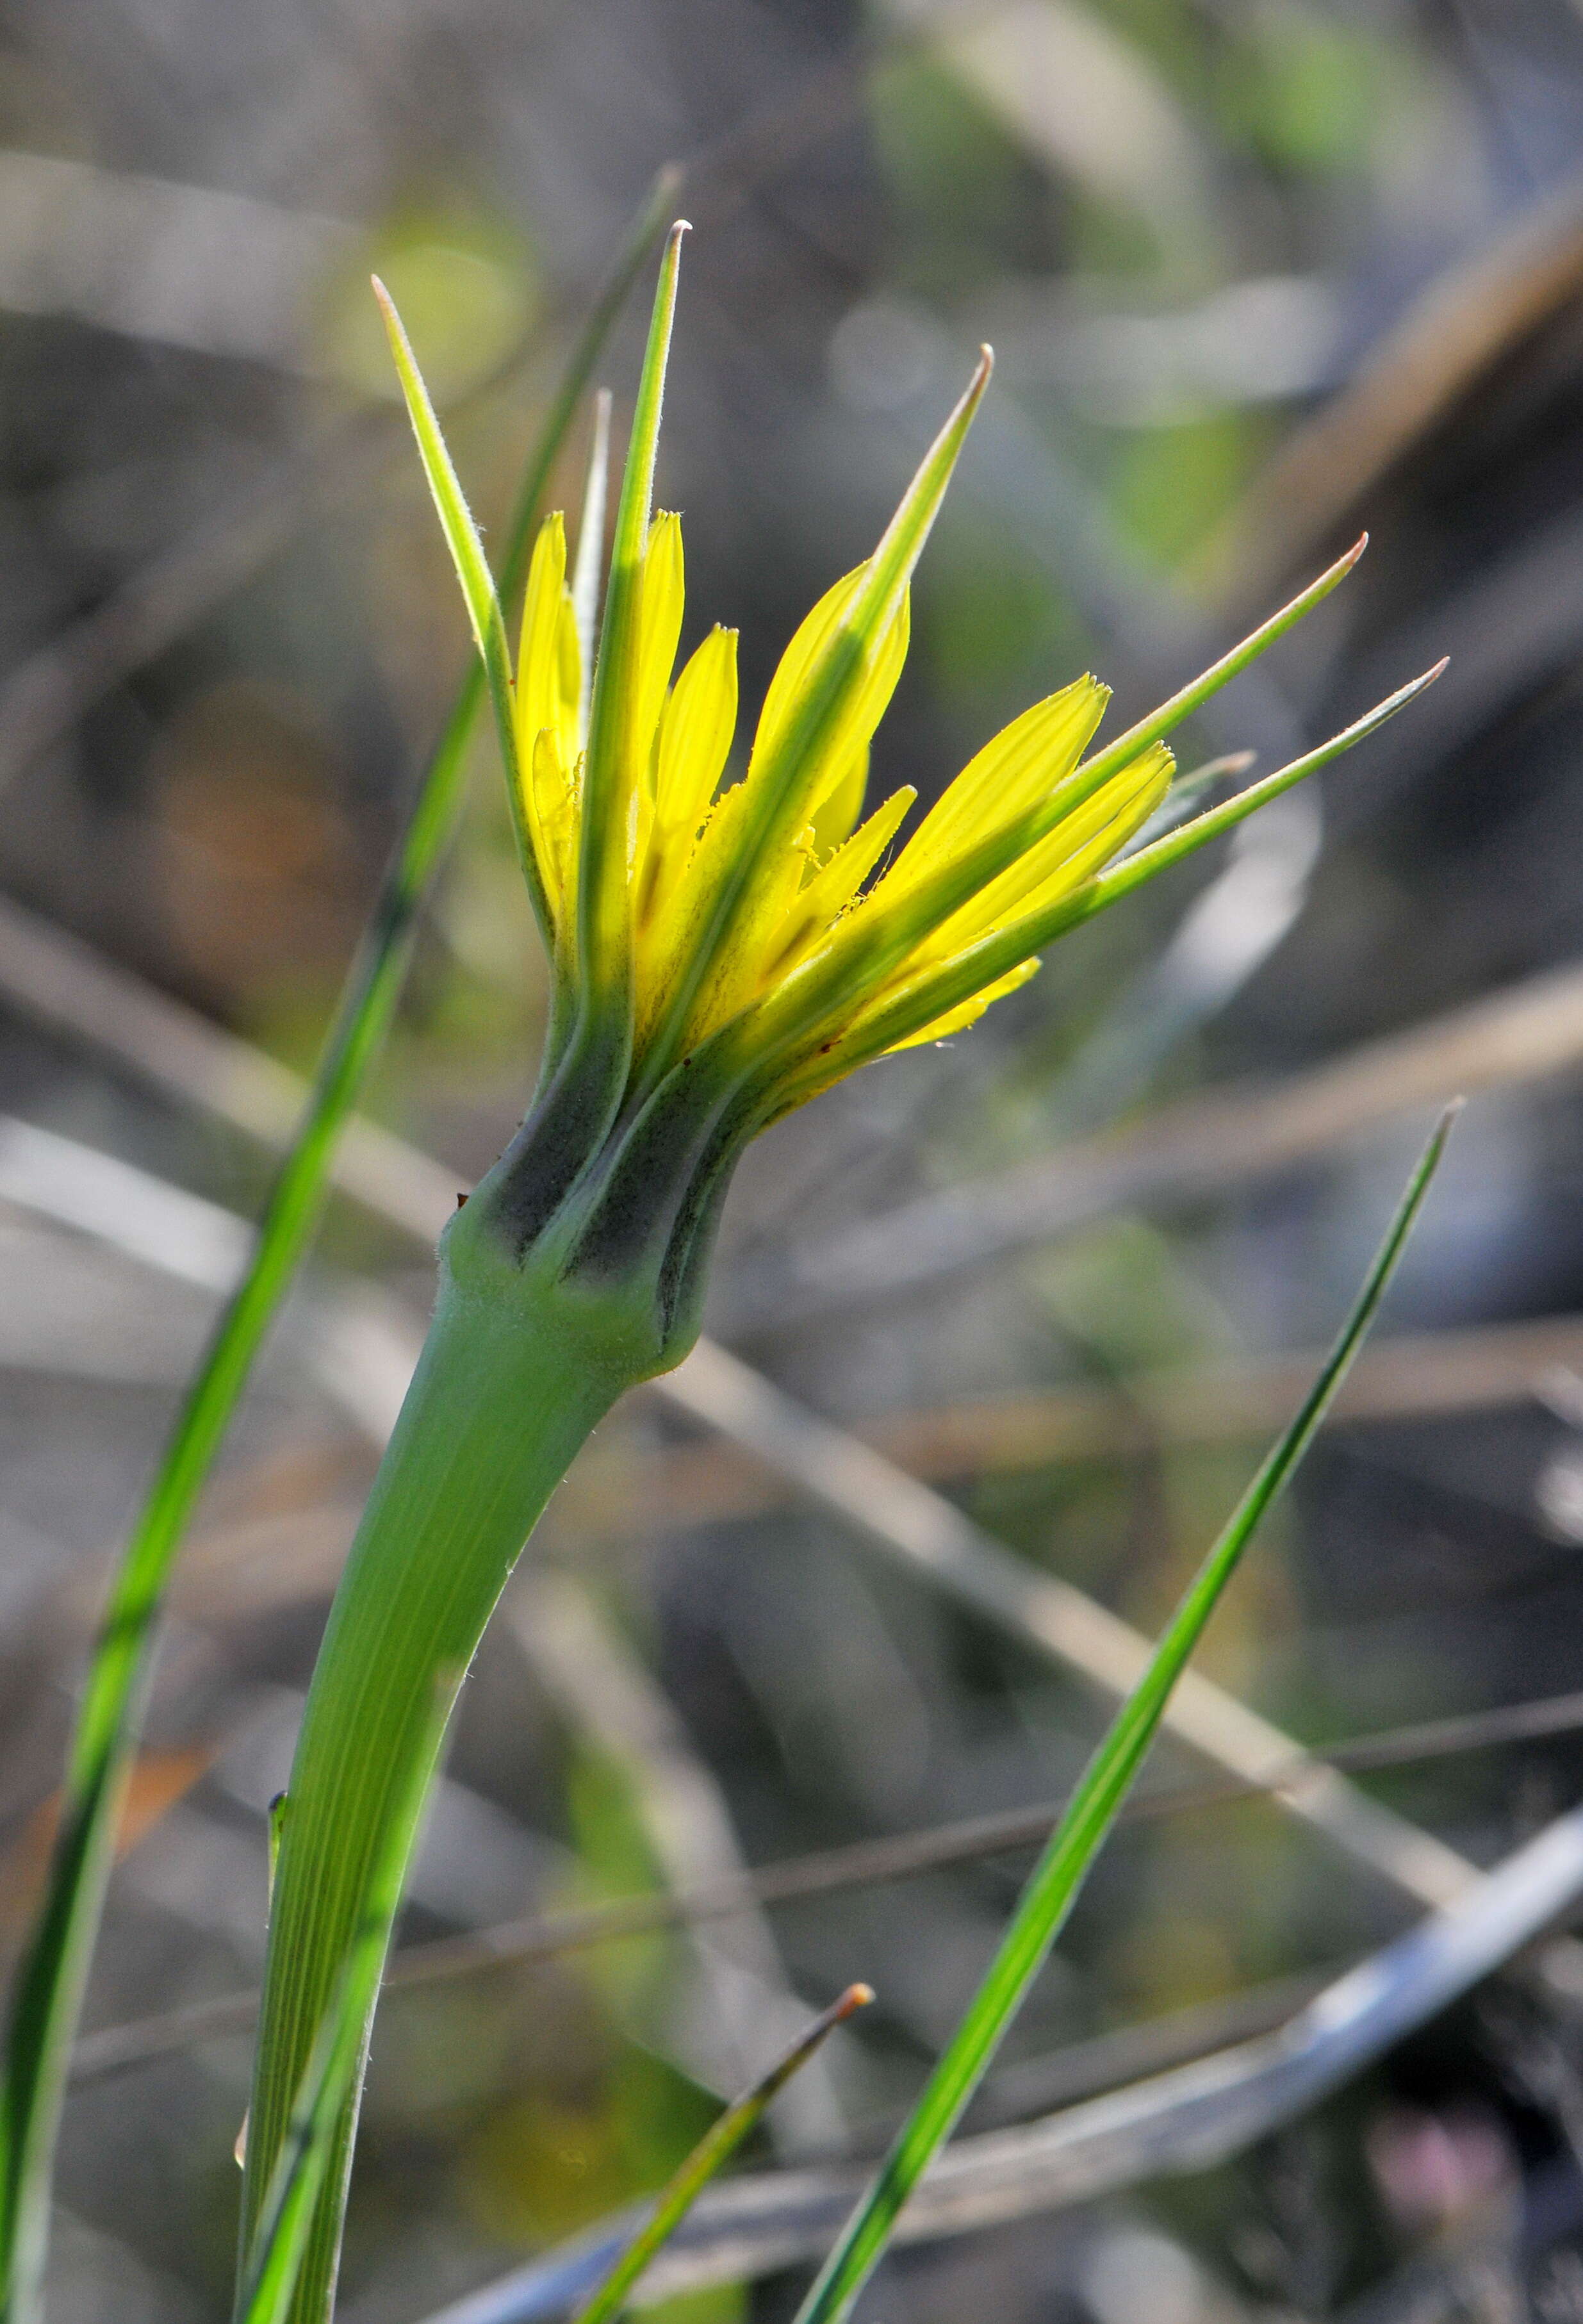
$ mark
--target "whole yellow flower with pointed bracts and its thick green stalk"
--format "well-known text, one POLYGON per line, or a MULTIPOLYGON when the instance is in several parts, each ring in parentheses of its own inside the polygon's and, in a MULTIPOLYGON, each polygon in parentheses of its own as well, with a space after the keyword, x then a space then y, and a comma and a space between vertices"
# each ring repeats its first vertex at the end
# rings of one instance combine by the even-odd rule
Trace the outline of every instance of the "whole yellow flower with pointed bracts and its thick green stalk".
MULTIPOLYGON (((386 302, 490 681, 553 999, 528 1118, 442 1241, 430 1339, 314 1673, 281 1817, 244 2236, 367 1929, 391 1822, 411 1815, 414 1764, 437 1750, 437 1673, 467 1666, 593 1425, 693 1346, 711 1229, 748 1139, 855 1067, 972 1025, 1055 937, 1427 683, 1127 853, 1172 790, 1165 734, 1325 597, 1353 551, 1113 741, 1093 748, 1106 688, 1083 676, 988 741, 911 832, 909 788, 865 813, 869 744, 907 655, 909 581, 988 386, 986 351, 872 558, 786 648, 735 776, 737 639, 711 630, 676 672, 681 523, 651 514, 679 237, 660 272, 597 648, 600 465, 576 567, 560 516, 539 535, 511 653, 386 302)), ((356 2096, 298 2289, 305 2324, 332 2296, 353 2115, 356 2096)))

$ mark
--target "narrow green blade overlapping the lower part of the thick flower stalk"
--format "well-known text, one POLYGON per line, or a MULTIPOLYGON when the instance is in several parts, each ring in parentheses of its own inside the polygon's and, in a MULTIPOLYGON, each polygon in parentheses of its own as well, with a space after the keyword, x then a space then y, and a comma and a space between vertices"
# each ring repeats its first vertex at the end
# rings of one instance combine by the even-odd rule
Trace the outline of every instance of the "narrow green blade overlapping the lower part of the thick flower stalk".
MULTIPOLYGON (((418 1815, 428 1771, 439 1757, 446 1713, 460 1685, 460 1671, 442 1673, 435 1687, 435 1717, 428 1750, 418 1757, 421 1785, 409 1813, 393 1815, 374 1866, 370 1910, 342 1966, 335 1999, 325 2010, 314 2052, 302 2071, 281 2157, 270 2180, 258 2233, 242 2268, 232 2324, 286 2324, 298 2289, 302 2254, 314 2224, 314 2205, 335 2154, 335 2131, 342 2103, 358 2068, 363 2027, 384 1973, 391 1922, 402 1901, 407 1878, 407 1841, 418 1815)), ((291 1806, 281 1810, 291 1813, 291 1806)), ((272 1822, 279 1817, 272 1813, 272 1822)))

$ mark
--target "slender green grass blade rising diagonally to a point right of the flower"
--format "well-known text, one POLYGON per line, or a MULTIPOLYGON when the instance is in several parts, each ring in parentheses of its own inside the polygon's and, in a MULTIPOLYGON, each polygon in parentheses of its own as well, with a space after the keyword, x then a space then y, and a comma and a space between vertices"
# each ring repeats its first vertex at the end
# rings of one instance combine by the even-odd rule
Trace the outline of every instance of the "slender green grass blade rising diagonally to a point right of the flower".
POLYGON ((934 2066, 923 2096, 900 2131, 879 2178, 853 2212, 841 2240, 825 2261, 818 2282, 797 2310, 795 2324, 839 2324, 883 2257, 897 2212, 907 2203, 934 2154, 941 2150, 962 2108, 979 2087, 1000 2040, 1016 2017, 1027 1987, 1044 1968, 1051 1945, 1076 1901, 1076 1894, 1097 1857, 1116 1813, 1144 1764, 1169 1692, 1181 1678, 1192 1648, 1197 1645, 1220 1592, 1237 1571, 1260 1518, 1288 1483, 1318 1429, 1325 1411, 1346 1378, 1346 1369, 1362 1343, 1374 1313, 1385 1297, 1385 1285, 1413 1220, 1430 1192, 1430 1181, 1446 1148, 1446 1136, 1457 1109, 1441 1116, 1434 1136, 1423 1150, 1406 1192, 1390 1220, 1362 1290, 1353 1304, 1341 1334, 1330 1350, 1325 1369, 1309 1390, 1302 1411, 1265 1457, 1258 1476, 1237 1504, 1225 1532, 1199 1566, 1188 1594, 1176 1608, 1169 1629, 1155 1648, 1148 1671, 1116 1713, 1099 1750, 1088 1762, 1083 1780, 1067 1801, 1067 1808, 1051 1834, 1051 1841, 1034 1866, 1018 1901, 990 1968, 974 1994, 962 2024, 934 2066))

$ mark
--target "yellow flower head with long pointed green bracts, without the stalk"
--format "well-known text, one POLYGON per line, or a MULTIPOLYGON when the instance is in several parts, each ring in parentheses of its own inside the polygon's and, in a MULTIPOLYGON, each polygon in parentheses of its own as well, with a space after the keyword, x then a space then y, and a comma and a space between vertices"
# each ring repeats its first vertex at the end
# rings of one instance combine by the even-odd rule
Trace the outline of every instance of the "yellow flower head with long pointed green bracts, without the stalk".
POLYGON ((644 1185, 690 1174, 697 1188, 746 1136, 853 1067, 972 1025, 1037 971, 1053 937, 1348 748, 1427 683, 1123 855, 1169 797, 1165 734, 1327 595, 1358 544, 1116 741, 1090 751, 1109 690, 1083 676, 988 741, 911 832, 911 788, 865 816, 869 744, 907 658, 911 572, 988 386, 986 349, 879 546, 825 590, 786 648, 746 767, 735 772, 737 637, 711 630, 676 669, 681 521, 651 514, 681 232, 660 270, 597 651, 602 458, 576 572, 563 518, 539 532, 511 658, 460 486, 386 302, 490 679, 523 871, 553 962, 539 1102, 516 1150, 518 1164, 532 1157, 525 1174, 537 1183, 518 1206, 523 1241, 574 1183, 597 1185, 607 1211, 623 1213, 616 1239, 630 1239, 644 1185))

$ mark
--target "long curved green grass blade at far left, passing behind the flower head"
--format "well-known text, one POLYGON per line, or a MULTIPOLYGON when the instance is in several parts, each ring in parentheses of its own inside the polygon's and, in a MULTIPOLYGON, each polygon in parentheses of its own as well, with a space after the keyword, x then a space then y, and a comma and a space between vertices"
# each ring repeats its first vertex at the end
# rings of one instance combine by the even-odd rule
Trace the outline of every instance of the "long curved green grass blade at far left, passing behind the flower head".
MULTIPOLYGON (((523 576, 544 486, 672 200, 674 172, 665 172, 572 349, 511 518, 502 567, 504 595, 523 576)), ((44 1901, 12 1989, 0 2071, 0 2319, 5 2324, 35 2324, 40 2312, 56 2124, 100 1924, 116 1813, 142 1720, 149 1648, 165 1580, 258 1346, 318 1222, 335 1141, 391 1025, 416 911, 456 827, 481 702, 484 676, 477 660, 470 660, 367 937, 351 964, 298 1141, 265 1204, 253 1260, 186 1390, 112 1583, 77 1713, 44 1901)))

